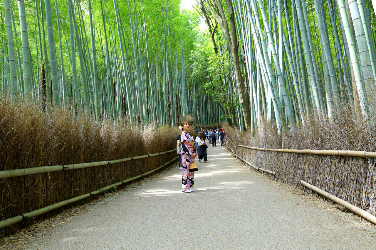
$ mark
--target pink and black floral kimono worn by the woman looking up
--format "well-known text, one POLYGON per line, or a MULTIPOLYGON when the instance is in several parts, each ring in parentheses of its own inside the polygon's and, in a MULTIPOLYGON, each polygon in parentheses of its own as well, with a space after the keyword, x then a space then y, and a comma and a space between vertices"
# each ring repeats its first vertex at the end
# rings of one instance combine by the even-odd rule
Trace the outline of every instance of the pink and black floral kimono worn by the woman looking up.
POLYGON ((182 142, 182 188, 193 188, 194 172, 189 172, 189 164, 191 163, 191 154, 196 153, 196 146, 193 136, 183 131, 180 141, 182 142))

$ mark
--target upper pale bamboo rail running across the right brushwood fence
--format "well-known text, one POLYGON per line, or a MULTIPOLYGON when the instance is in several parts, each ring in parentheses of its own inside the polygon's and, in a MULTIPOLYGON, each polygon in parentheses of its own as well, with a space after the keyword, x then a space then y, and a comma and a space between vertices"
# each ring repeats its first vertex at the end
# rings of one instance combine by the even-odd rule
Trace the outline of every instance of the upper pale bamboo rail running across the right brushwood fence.
POLYGON ((357 156, 357 157, 376 157, 375 152, 367 152, 367 151, 256 148, 256 147, 250 147, 250 146, 244 146, 244 145, 235 145, 235 146, 259 150, 259 151, 275 151, 275 152, 288 152, 288 153, 312 154, 312 155, 340 155, 340 156, 357 156))

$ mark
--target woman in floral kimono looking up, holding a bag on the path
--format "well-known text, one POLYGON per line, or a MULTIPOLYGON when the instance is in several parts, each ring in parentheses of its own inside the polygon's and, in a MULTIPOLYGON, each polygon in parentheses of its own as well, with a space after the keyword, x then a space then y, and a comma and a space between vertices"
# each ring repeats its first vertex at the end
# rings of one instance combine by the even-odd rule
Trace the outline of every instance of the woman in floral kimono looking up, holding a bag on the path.
POLYGON ((193 192, 193 182, 194 182, 194 172, 189 171, 190 163, 194 163, 194 158, 196 158, 196 146, 193 136, 188 133, 189 123, 185 120, 181 123, 180 129, 183 130, 181 134, 180 141, 182 143, 182 192, 191 193, 193 192))

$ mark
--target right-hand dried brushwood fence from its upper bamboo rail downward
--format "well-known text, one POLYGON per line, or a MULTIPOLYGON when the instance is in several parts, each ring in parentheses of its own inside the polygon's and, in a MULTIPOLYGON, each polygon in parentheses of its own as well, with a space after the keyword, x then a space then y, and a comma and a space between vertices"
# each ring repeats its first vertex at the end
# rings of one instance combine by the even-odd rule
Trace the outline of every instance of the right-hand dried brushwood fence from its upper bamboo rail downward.
MULTIPOLYGON (((324 196, 327 199, 330 199, 346 207, 350 211, 353 211, 361 217, 367 219, 368 221, 371 221, 372 223, 376 224, 376 217, 373 215, 375 213, 376 206, 374 178, 374 157, 376 157, 375 152, 258 148, 235 144, 228 137, 228 134, 229 133, 227 132, 226 147, 232 151, 235 157, 240 158, 240 160, 247 163, 253 169, 262 170, 266 173, 275 176, 276 180, 278 179, 281 182, 294 184, 296 185, 296 187, 298 187, 298 184, 300 183, 304 187, 309 188, 309 190, 315 191, 321 196, 324 196), (227 144, 227 141, 230 142, 230 145, 227 144), (325 161, 323 161, 322 158, 318 157, 316 157, 315 159, 314 157, 312 157, 312 155, 320 155, 326 159, 325 161), (337 159, 335 159, 334 157, 337 157, 337 159), (354 173, 352 175, 350 174, 352 171, 351 166, 347 169, 346 172, 344 172, 343 175, 340 175, 340 173, 343 173, 342 171, 336 171, 337 166, 341 166, 341 164, 346 164, 348 162, 345 159, 338 157, 350 158, 352 159, 352 161, 356 161, 356 163, 360 162, 363 163, 365 166, 368 165, 368 172, 366 172, 367 174, 363 176, 363 178, 360 178, 361 180, 364 180, 364 182, 356 183, 357 185, 361 186, 362 192, 359 192, 359 190, 355 190, 353 188, 353 185, 351 185, 350 183, 351 177, 355 177, 353 179, 356 179, 356 177, 361 177, 357 174, 354 175, 354 173), (247 160, 244 158, 246 158, 247 160), (321 171, 318 172, 318 175, 317 172, 315 174, 315 169, 317 168, 309 166, 309 163, 312 163, 312 161, 314 160, 320 163, 326 162, 327 165, 324 166, 324 170, 326 170, 329 174, 325 175, 325 172, 322 171, 322 168, 321 171), (337 164, 334 164, 336 160, 337 164), (254 162, 255 164, 252 164, 249 161, 254 162), (301 163, 303 163, 304 165, 302 166, 301 163), (334 164, 335 166, 329 166, 329 164, 334 164), (268 169, 272 169, 275 172, 261 169, 258 166, 267 166, 268 169), (332 179, 330 178, 330 173, 332 173, 332 179), (323 179, 322 176, 325 176, 326 178, 323 179), (366 177, 368 177, 369 179, 367 180, 366 177), (315 183, 315 185, 322 187, 322 189, 316 187, 315 185, 311 185, 303 181, 302 179, 305 179, 307 182, 310 183, 315 183), (346 192, 343 192, 344 190, 335 189, 333 188, 333 186, 340 186, 346 188, 346 192), (329 187, 329 189, 326 189, 326 187, 329 187), (324 190, 328 190, 328 192, 324 190), (334 193, 335 195, 333 195, 332 193, 334 193), (351 196, 350 194, 353 195, 351 196), (337 196, 342 196, 345 198, 341 199, 337 196), (348 200, 350 200, 350 202, 346 201, 346 197, 348 200), (349 199, 348 197, 351 197, 351 199, 349 199), (362 208, 359 208, 358 206, 361 206, 362 208)), ((305 190, 305 192, 307 191, 308 190, 305 190)))

